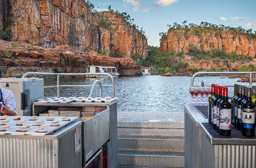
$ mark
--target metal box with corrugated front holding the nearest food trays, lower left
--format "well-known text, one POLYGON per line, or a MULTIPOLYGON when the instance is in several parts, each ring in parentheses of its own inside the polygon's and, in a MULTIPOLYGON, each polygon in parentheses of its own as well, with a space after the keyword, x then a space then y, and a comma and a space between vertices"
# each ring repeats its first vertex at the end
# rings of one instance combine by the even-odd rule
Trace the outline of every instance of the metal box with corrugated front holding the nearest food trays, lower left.
POLYGON ((45 136, 0 135, 0 167, 80 168, 80 141, 81 121, 45 136))

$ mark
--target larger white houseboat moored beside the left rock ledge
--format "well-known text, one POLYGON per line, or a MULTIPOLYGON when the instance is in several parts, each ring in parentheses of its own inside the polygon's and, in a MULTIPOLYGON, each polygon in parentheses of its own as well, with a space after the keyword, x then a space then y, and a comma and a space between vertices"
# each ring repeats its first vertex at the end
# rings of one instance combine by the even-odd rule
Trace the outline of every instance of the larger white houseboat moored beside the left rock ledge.
MULTIPOLYGON (((112 77, 118 77, 120 74, 117 72, 116 67, 104 67, 104 66, 94 66, 90 65, 87 67, 87 73, 108 73, 112 77)), ((102 78, 107 77, 105 75, 87 75, 88 77, 102 78)))

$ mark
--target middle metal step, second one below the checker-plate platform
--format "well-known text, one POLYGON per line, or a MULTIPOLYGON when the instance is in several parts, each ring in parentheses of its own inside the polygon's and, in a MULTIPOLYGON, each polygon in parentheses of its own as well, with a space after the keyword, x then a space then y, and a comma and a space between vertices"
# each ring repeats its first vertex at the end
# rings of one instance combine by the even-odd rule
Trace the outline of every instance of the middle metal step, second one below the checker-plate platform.
POLYGON ((184 136, 118 136, 119 150, 184 152, 184 136))

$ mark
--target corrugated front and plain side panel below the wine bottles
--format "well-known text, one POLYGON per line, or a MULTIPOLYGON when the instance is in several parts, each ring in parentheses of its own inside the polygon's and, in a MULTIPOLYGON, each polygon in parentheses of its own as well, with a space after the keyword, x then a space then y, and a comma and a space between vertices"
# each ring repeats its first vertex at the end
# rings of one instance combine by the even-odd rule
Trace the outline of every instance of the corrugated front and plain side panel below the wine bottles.
POLYGON ((202 163, 207 168, 251 168, 256 162, 255 146, 211 145, 205 135, 202 136, 202 163))

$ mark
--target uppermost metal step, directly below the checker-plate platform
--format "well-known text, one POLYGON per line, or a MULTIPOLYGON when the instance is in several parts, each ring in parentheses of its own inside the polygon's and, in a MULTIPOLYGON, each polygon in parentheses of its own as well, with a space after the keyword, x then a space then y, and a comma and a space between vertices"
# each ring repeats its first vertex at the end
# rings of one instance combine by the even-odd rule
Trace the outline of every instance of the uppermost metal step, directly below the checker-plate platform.
POLYGON ((184 128, 127 128, 118 127, 117 135, 184 136, 184 128))

